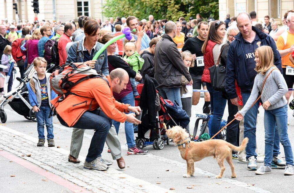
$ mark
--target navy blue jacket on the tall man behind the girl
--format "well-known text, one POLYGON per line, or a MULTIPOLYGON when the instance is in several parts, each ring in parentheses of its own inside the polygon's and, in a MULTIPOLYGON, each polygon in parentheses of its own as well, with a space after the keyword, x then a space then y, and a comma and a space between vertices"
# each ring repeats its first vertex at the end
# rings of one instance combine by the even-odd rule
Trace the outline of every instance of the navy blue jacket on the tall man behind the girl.
MULTIPOLYGON (((252 30, 259 36, 261 43, 260 46, 270 46, 274 53, 274 65, 281 71, 282 63, 281 56, 277 50, 277 46, 272 37, 268 34, 263 33, 259 29, 252 26, 252 30)), ((251 92, 253 88, 254 79, 257 72, 253 68, 249 68, 246 62, 245 48, 243 44, 242 34, 239 32, 235 36, 235 40, 232 41, 229 47, 227 55, 227 70, 226 70, 226 92, 229 99, 238 97, 235 89, 235 80, 237 85, 240 87, 241 92, 251 92)))

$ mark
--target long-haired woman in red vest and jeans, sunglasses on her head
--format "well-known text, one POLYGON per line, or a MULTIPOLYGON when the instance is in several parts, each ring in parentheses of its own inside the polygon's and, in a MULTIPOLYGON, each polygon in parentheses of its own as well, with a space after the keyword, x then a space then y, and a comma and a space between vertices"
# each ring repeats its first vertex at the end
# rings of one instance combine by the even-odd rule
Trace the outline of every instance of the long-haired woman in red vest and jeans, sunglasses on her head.
MULTIPOLYGON (((220 55, 220 45, 223 42, 225 30, 225 23, 223 21, 216 20, 211 22, 207 38, 201 49, 204 58, 204 71, 201 81, 206 82, 206 87, 210 94, 211 114, 213 114, 210 136, 213 136, 220 130, 220 122, 227 102, 227 100, 222 97, 222 92, 216 91, 212 88, 208 69, 215 65, 218 60, 220 55)), ((218 135, 215 139, 218 139, 218 135)))

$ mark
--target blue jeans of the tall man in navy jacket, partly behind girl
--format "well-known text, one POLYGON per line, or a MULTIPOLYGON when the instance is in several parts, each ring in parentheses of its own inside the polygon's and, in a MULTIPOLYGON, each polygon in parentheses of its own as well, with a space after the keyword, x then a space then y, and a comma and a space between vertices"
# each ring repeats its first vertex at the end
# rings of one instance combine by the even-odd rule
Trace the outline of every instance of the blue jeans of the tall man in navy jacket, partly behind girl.
MULTIPOLYGON (((249 99, 250 93, 241 93, 243 105, 249 99)), ((256 120, 257 120, 257 111, 259 107, 259 102, 256 102, 251 109, 244 116, 244 138, 248 137, 249 141, 246 146, 246 159, 251 156, 257 157, 255 152, 256 149, 256 120)), ((275 130, 275 138, 273 144, 273 157, 278 156, 280 154, 280 138, 278 134, 278 129, 275 130)))

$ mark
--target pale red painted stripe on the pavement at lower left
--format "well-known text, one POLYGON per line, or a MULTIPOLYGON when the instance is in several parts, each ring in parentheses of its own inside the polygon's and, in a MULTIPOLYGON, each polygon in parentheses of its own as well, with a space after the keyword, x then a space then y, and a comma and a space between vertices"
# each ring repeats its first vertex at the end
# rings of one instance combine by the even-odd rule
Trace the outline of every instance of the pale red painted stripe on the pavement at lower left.
POLYGON ((0 151, 0 155, 7 158, 7 159, 10 159, 11 161, 13 161, 15 163, 18 163, 19 165, 37 173, 37 174, 40 174, 40 175, 46 177, 47 179, 51 180, 52 182, 55 182, 56 184, 59 184, 67 189, 70 189, 72 192, 91 193, 90 191, 85 190, 84 188, 63 179, 62 177, 60 177, 56 174, 53 174, 49 171, 47 172, 46 170, 39 168, 24 159, 21 159, 19 157, 16 157, 15 155, 12 155, 9 152, 0 151))

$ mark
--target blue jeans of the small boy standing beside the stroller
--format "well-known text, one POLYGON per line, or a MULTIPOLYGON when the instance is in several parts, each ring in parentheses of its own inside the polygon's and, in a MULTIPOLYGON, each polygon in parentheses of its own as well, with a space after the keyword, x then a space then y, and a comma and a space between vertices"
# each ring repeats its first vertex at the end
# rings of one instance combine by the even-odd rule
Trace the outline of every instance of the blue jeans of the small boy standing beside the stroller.
POLYGON ((46 124, 47 129, 47 139, 53 139, 53 124, 52 117, 48 118, 50 115, 51 108, 49 106, 39 107, 40 111, 36 112, 37 118, 37 129, 39 134, 39 139, 45 139, 44 136, 44 124, 46 124))

